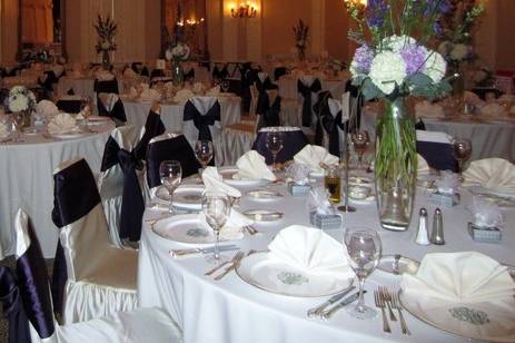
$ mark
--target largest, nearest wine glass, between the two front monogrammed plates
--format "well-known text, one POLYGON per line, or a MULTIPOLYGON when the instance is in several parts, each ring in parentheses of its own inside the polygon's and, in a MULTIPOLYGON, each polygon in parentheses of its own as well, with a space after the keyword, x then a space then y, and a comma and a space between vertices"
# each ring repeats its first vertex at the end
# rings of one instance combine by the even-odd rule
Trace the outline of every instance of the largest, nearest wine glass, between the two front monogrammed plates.
POLYGON ((365 305, 363 290, 365 278, 376 268, 380 259, 382 244, 377 232, 366 227, 349 227, 345 232, 347 259, 359 281, 359 300, 355 307, 350 307, 350 316, 359 320, 373 318, 377 312, 365 305))

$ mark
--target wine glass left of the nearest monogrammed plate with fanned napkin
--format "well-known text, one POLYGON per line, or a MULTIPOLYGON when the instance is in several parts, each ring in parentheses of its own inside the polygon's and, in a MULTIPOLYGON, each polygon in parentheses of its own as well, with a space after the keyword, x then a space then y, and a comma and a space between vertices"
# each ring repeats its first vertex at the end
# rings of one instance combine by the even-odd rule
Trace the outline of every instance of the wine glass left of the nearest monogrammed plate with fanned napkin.
POLYGON ((202 198, 202 213, 206 216, 206 222, 215 232, 215 251, 212 256, 206 256, 207 262, 211 264, 220 264, 227 261, 220 256, 219 242, 220 229, 226 225, 230 216, 231 202, 226 194, 207 193, 202 198))

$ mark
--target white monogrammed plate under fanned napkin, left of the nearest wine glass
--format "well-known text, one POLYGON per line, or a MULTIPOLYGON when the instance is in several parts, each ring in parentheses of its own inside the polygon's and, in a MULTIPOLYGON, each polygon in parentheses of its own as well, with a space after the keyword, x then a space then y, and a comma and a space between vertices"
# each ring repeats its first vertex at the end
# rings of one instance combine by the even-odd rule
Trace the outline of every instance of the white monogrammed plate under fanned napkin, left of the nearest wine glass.
POLYGON ((299 271, 270 257, 256 253, 241 259, 236 273, 246 283, 260 290, 298 297, 326 296, 348 287, 351 278, 335 278, 299 271))

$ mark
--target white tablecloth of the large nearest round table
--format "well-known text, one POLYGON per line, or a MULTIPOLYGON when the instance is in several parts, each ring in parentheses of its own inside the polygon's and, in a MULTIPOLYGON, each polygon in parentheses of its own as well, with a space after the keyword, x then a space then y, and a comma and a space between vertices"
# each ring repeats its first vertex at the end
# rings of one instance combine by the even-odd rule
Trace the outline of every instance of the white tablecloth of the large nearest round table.
MULTIPOLYGON (((259 202, 249 198, 241 200, 240 210, 267 208, 285 213, 285 217, 276 223, 257 224, 260 234, 248 236, 235 244, 241 251, 266 249, 274 236, 291 224, 308 225, 308 212, 305 197, 291 197, 285 185, 273 188, 285 195, 284 199, 259 202)), ((247 188, 249 189, 249 188, 247 188)), ((244 188, 241 189, 244 190, 244 188)), ((417 190, 414 213, 420 206, 433 214, 434 205, 428 195, 417 190)), ((412 220, 407 232, 393 233, 379 228, 375 202, 356 205, 357 212, 344 216, 344 226, 368 226, 377 228, 383 241, 384 254, 403 254, 420 261, 426 253, 479 251, 499 262, 515 264, 515 231, 505 229, 501 244, 479 244, 472 241, 466 223, 471 219, 465 206, 472 196, 462 194, 463 202, 454 208, 443 208, 445 225, 444 246, 418 246, 414 243, 415 225, 412 220)), ((147 209, 145 218, 150 220, 162 214, 147 209)), ((505 213, 506 228, 515 224, 515 209, 505 213)), ((343 229, 326 231, 341 242, 343 229)), ((231 242, 232 243, 232 242, 231 242)), ((299 343, 299 342, 466 342, 443 331, 436 330, 404 311, 412 336, 403 336, 398 322, 390 322, 393 333, 382 330, 380 313, 375 320, 359 321, 347 315, 345 308, 336 313, 329 321, 309 320, 306 311, 328 297, 301 298, 277 295, 261 291, 247 284, 231 272, 221 281, 214 281, 204 273, 212 267, 204 257, 174 259, 169 255, 171 248, 191 247, 165 239, 155 234, 143 220, 138 266, 138 301, 140 306, 158 306, 165 308, 182 327, 186 343, 299 343)), ((229 253, 225 253, 229 255, 229 253)), ((235 254, 234 252, 231 255, 235 254)), ((374 304, 373 290, 378 285, 398 288, 400 276, 375 271, 368 278, 365 288, 366 303, 374 304)))

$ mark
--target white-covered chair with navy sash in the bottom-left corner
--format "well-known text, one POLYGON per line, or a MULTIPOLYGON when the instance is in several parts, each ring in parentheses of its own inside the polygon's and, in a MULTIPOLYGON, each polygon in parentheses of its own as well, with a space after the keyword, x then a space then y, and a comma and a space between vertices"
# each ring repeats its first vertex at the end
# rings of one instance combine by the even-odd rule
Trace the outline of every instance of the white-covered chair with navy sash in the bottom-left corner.
POLYGON ((60 326, 53 317, 49 277, 38 238, 27 214, 16 216, 17 275, 0 267, 0 301, 9 320, 10 343, 110 343, 182 341, 177 324, 162 311, 117 312, 60 326))

